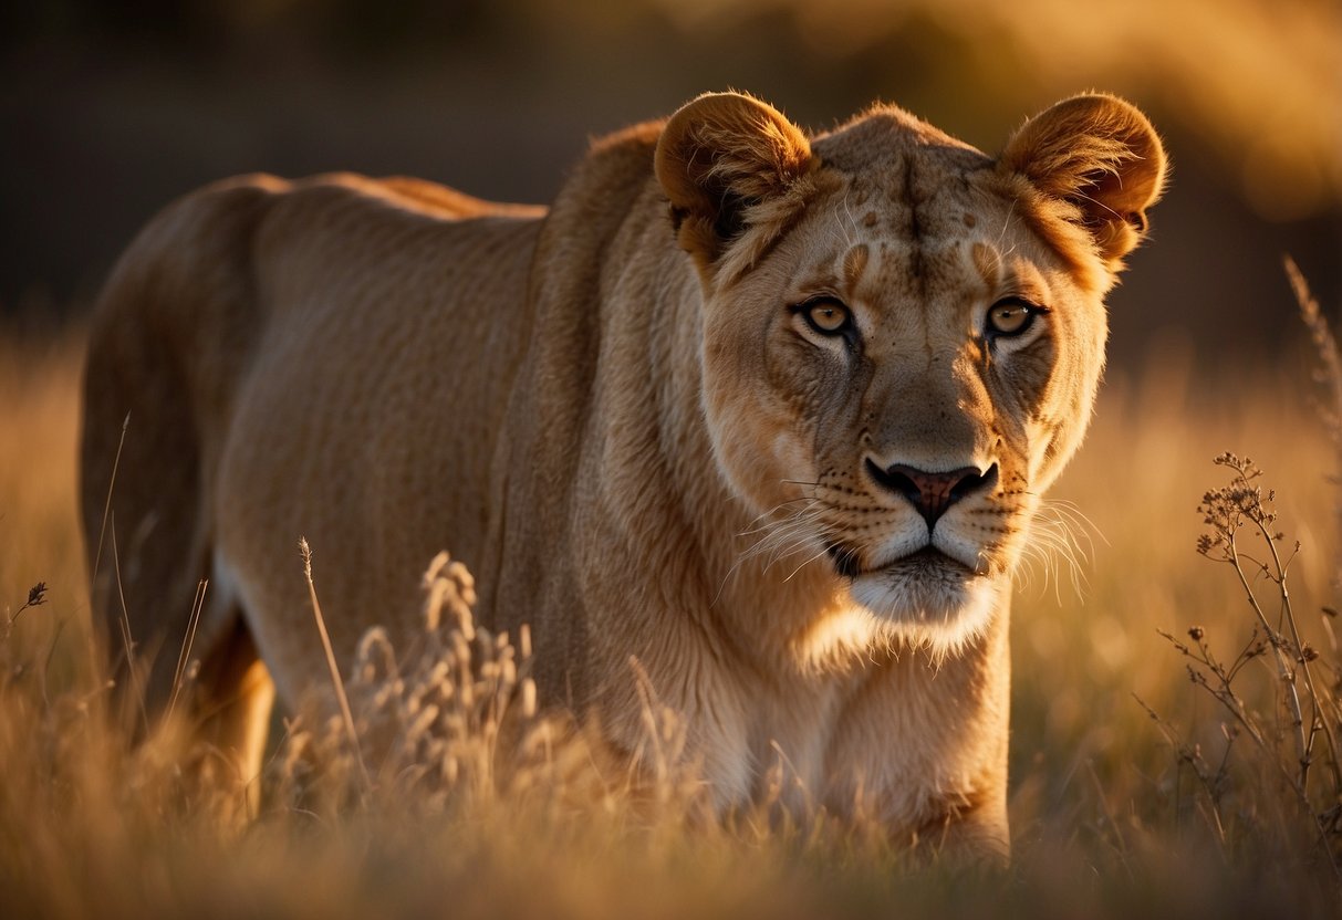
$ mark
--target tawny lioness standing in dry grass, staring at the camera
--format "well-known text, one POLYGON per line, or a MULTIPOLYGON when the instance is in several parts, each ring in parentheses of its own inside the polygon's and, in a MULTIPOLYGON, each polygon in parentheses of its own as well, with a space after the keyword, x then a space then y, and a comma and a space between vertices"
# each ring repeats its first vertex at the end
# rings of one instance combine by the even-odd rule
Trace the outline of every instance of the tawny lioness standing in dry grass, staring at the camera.
POLYGON ((549 211, 205 188, 94 318, 97 609, 161 650, 161 709, 209 579, 192 705, 246 779, 276 689, 327 681, 299 535, 342 661, 419 626, 447 547, 612 748, 640 742, 637 671, 721 806, 781 750, 833 811, 1005 854, 1012 570, 1164 177, 1108 95, 989 157, 891 106, 808 137, 726 93, 596 142, 549 211))

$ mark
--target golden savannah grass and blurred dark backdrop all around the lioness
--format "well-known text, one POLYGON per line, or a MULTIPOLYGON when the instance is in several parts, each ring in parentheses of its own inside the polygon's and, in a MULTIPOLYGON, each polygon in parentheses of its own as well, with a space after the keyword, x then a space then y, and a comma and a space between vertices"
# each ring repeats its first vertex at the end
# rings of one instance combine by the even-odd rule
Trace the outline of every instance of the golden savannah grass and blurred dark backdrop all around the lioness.
POLYGON ((0 920, 1342 916, 1342 367, 1275 264, 1295 253, 1338 321, 1335 0, 11 5, 0 920), (258 169, 546 201, 589 135, 727 87, 817 129, 891 99, 984 149, 1094 87, 1169 142, 1094 424, 1017 579, 1009 869, 773 799, 706 817, 652 699, 635 783, 538 713, 526 637, 475 630, 440 561, 436 628, 340 663, 352 726, 278 715, 243 819, 180 715, 141 738, 111 711, 90 626, 81 323, 111 262, 172 197, 258 169))

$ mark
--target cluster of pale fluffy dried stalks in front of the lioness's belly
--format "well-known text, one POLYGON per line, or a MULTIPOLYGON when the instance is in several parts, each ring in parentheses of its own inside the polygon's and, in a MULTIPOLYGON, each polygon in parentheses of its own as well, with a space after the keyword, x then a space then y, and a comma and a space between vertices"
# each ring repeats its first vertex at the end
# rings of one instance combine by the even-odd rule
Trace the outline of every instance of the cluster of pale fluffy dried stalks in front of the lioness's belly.
POLYGON ((349 781, 362 774, 364 751, 373 777, 368 782, 381 798, 404 799, 413 791, 417 807, 442 811, 498 791, 498 747, 514 727, 510 770, 542 750, 553 754, 556 730, 538 716, 526 673, 527 630, 514 645, 506 633, 476 626, 474 579, 446 553, 429 565, 424 589, 424 632, 413 654, 399 658, 385 630, 369 629, 345 684, 349 715, 325 723, 301 717, 290 726, 278 764, 280 798, 306 802, 317 795, 341 807, 357 797, 349 781))

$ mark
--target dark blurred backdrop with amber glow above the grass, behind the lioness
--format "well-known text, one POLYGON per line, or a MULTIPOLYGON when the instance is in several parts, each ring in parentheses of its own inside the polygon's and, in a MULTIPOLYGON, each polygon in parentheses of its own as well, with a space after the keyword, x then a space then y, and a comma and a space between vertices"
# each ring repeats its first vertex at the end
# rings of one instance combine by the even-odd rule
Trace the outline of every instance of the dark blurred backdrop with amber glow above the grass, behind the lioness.
POLYGON ((988 152, 1063 95, 1138 102, 1174 177, 1111 298, 1117 366, 1280 354, 1284 252, 1342 299, 1337 0, 35 0, 0 9, 0 318, 78 317, 213 178, 548 201, 592 135, 727 87, 816 130, 892 101, 988 152))

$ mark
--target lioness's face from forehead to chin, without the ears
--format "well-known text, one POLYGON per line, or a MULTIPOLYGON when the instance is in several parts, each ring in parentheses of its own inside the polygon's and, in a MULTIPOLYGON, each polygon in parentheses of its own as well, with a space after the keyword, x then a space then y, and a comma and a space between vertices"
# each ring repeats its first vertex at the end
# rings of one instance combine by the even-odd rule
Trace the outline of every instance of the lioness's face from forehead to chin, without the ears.
POLYGON ((1104 312, 992 193, 937 182, 914 205, 899 170, 837 178, 706 303, 718 463, 761 550, 958 632, 1086 425, 1104 312))

